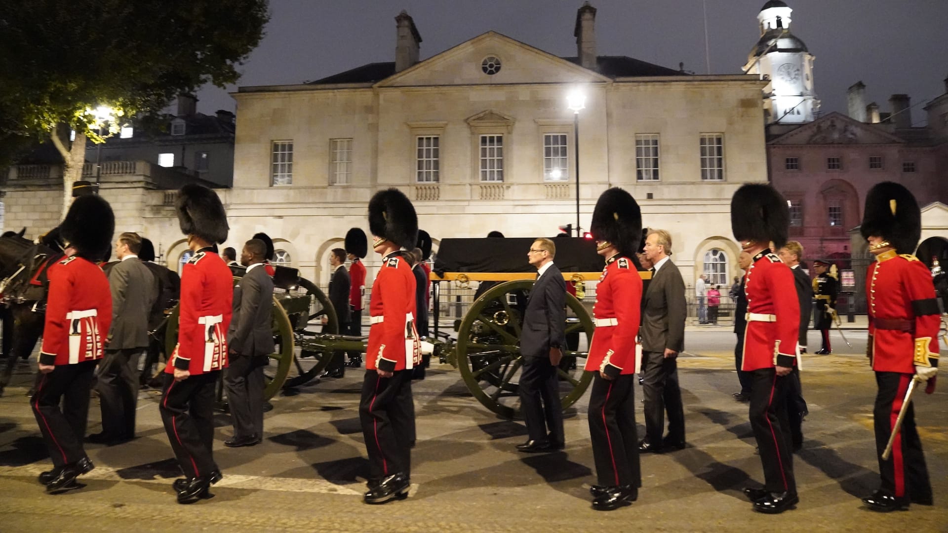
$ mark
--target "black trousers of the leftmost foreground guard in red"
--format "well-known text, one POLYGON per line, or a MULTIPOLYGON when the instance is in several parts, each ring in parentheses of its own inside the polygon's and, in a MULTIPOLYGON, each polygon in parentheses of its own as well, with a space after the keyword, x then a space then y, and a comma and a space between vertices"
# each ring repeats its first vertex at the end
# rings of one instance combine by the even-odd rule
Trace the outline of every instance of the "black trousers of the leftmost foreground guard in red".
POLYGON ((60 468, 85 457, 82 439, 89 415, 89 393, 96 360, 56 365, 41 374, 36 393, 29 402, 43 433, 53 466, 60 468), (60 410, 60 403, 63 409, 60 410))

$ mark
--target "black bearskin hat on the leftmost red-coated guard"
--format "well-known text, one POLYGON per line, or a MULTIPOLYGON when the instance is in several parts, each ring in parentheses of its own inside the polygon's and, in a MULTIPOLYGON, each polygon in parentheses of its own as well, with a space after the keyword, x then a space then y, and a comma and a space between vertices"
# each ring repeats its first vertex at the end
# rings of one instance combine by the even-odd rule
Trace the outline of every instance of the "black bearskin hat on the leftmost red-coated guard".
POLYGON ((69 246, 98 260, 112 248, 116 217, 112 206, 98 194, 77 197, 65 213, 60 233, 69 246))

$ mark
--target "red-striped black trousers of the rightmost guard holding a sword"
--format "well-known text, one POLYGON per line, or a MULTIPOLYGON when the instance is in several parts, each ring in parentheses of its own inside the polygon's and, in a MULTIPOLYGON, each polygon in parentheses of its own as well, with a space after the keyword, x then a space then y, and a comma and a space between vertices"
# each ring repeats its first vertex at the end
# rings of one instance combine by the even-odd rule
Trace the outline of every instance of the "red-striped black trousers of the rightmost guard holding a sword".
MULTIPOLYGON (((876 451, 879 457, 879 473, 882 477, 882 489, 898 498, 910 498, 915 502, 932 499, 932 484, 925 467, 925 455, 921 451, 921 439, 915 427, 915 406, 911 403, 902 418, 902 430, 892 443, 892 454, 883 461, 882 453, 892 434, 892 426, 899 411, 905 391, 912 380, 912 374, 897 372, 877 372, 876 383, 879 394, 873 410, 873 422, 876 431, 876 451)), ((914 396, 917 396, 916 393, 914 396)))

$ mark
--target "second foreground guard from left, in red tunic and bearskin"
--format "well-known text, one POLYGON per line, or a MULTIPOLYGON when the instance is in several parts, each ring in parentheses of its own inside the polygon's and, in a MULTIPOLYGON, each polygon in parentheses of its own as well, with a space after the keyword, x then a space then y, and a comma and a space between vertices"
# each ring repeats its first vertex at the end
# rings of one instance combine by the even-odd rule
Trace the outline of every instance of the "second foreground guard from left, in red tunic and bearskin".
POLYGON ((227 331, 233 278, 214 253, 228 238, 220 198, 206 187, 181 188, 176 202, 181 232, 194 252, 181 270, 178 342, 165 368, 161 420, 185 479, 174 482, 178 503, 205 496, 221 479, 211 452, 214 441, 214 386, 228 366, 227 331))

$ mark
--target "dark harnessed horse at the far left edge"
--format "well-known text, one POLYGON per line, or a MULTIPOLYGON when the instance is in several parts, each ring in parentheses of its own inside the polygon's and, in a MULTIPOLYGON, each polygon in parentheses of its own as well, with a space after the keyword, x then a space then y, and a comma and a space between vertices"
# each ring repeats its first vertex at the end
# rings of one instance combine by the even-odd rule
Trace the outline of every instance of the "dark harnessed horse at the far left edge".
POLYGON ((26 229, 8 231, 0 237, 0 305, 4 312, 4 355, 0 373, 0 395, 9 384, 19 359, 27 359, 43 334, 46 314, 46 269, 63 257, 56 245, 56 232, 36 244, 23 237, 26 229), (12 324, 10 324, 12 322, 12 324), (12 337, 11 340, 8 337, 12 337))

